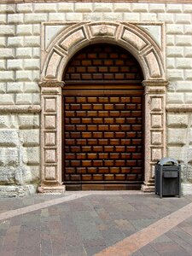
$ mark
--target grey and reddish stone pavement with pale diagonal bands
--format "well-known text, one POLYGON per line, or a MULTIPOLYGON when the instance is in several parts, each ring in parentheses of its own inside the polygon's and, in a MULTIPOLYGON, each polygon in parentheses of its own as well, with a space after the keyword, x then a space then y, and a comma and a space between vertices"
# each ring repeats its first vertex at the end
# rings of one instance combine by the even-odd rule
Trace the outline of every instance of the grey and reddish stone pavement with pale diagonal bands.
POLYGON ((0 255, 192 255, 192 195, 160 199, 137 193, 92 191, 0 198, 0 255), (165 217, 171 225, 162 224, 160 235, 158 221, 165 217), (154 235, 150 227, 155 230, 156 226, 154 235), (148 233, 141 244, 140 232, 148 233), (133 234, 138 246, 130 253, 127 245, 133 234), (113 249, 116 254, 111 253, 113 249))

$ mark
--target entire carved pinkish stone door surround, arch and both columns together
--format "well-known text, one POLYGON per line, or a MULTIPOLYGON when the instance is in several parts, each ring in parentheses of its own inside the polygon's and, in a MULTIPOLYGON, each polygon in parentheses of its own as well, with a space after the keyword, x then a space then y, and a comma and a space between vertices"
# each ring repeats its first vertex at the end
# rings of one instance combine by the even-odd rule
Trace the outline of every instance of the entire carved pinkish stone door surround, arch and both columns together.
POLYGON ((148 33, 148 26, 152 25, 155 28, 155 24, 151 23, 110 21, 66 22, 59 26, 57 23, 43 24, 42 72, 39 83, 42 99, 42 183, 39 191, 64 189, 61 184, 61 90, 64 83, 61 79, 72 56, 88 44, 96 43, 118 44, 134 55, 143 69, 146 131, 143 190, 154 189, 154 163, 166 155, 167 81, 163 24, 156 24, 161 32, 159 41, 148 33), (53 40, 46 41, 46 26, 57 26, 53 40))

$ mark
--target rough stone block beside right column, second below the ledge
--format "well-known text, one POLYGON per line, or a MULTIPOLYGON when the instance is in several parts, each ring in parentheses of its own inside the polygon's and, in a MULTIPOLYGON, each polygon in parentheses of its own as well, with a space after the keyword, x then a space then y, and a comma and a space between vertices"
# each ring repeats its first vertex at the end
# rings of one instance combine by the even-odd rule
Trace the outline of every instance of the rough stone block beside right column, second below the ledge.
POLYGON ((184 145, 186 143, 187 129, 168 128, 168 145, 184 145))

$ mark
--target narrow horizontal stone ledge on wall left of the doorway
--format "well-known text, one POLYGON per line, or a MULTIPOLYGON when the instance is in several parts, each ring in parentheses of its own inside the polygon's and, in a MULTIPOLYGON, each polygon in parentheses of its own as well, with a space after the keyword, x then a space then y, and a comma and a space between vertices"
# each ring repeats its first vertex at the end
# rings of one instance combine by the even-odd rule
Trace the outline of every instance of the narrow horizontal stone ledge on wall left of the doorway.
POLYGON ((0 113, 40 113, 40 105, 4 105, 0 106, 0 113))

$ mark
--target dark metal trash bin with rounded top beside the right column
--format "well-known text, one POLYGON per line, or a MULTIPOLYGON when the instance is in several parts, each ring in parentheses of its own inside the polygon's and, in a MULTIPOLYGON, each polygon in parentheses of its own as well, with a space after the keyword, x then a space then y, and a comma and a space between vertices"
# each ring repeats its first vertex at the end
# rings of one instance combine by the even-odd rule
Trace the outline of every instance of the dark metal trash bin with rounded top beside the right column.
POLYGON ((155 194, 181 196, 181 166, 173 158, 162 158, 154 167, 155 194))

